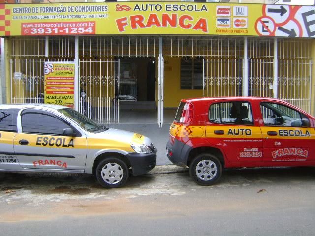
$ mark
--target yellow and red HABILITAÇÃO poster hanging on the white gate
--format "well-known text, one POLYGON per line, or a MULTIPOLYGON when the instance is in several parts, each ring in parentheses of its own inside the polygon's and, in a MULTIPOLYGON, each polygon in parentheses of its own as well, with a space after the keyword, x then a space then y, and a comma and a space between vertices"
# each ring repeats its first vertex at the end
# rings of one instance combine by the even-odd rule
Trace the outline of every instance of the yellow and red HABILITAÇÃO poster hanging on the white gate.
POLYGON ((45 103, 74 107, 74 63, 45 62, 45 103))

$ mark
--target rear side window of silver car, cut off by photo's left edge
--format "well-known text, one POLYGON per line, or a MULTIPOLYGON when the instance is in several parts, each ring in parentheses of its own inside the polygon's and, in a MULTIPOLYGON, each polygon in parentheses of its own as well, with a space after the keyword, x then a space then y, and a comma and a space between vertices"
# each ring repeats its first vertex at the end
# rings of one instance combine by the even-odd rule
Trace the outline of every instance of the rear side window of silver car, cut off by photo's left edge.
POLYGON ((0 131, 17 132, 17 116, 20 109, 0 110, 0 131))

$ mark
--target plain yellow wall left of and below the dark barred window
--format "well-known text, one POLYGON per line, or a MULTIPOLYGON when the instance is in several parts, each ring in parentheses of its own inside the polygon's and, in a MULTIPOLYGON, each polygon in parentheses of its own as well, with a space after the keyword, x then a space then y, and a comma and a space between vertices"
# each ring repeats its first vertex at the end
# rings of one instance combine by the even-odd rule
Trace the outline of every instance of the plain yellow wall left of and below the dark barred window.
POLYGON ((181 89, 181 58, 164 57, 164 107, 176 108, 181 99, 202 97, 203 90, 181 89))

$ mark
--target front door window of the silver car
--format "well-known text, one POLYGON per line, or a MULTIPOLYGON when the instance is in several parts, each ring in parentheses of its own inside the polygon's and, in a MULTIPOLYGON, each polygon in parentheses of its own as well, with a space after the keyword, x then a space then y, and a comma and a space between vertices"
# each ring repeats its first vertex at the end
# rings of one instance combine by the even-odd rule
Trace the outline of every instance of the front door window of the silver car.
POLYGON ((23 133, 62 135, 63 129, 70 125, 52 113, 27 109, 22 112, 23 133))

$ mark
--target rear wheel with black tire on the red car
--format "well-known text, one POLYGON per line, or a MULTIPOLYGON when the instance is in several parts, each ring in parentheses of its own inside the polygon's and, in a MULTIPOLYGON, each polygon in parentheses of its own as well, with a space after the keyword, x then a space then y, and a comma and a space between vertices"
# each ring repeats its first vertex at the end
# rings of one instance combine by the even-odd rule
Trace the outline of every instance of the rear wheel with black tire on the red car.
POLYGON ((203 153, 193 159, 189 174, 199 185, 212 185, 221 178, 222 164, 216 156, 203 153))

